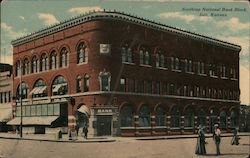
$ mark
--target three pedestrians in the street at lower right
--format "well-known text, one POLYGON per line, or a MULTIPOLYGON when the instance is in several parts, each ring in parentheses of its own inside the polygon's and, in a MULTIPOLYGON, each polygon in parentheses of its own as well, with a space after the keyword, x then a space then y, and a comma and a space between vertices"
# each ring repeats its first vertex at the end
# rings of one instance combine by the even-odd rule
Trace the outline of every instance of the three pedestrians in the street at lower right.
MULTIPOLYGON (((206 142, 206 137, 205 137, 205 132, 204 132, 204 127, 201 125, 198 127, 198 138, 197 138, 197 145, 196 145, 196 151, 195 153, 197 155, 205 155, 206 154, 206 147, 205 145, 207 144, 206 142)), ((238 136, 238 131, 235 128, 234 129, 234 135, 231 141, 231 145, 239 145, 239 136, 238 136)), ((216 145, 216 154, 220 155, 220 142, 221 142, 221 131, 219 129, 219 125, 215 124, 214 125, 214 131, 213 131, 213 140, 216 145)))

